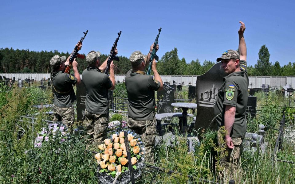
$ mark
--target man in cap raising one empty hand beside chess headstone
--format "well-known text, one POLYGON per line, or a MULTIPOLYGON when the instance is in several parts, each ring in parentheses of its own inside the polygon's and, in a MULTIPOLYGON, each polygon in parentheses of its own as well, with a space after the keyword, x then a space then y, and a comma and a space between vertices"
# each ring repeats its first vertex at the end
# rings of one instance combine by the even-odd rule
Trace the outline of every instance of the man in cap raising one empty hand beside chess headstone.
MULTIPOLYGON (((221 146, 223 139, 228 151, 220 165, 223 167, 222 176, 225 178, 239 177, 239 159, 242 153, 242 142, 246 134, 246 107, 248 99, 249 79, 246 63, 246 43, 244 39, 245 24, 240 21, 239 53, 235 50, 227 50, 217 58, 221 61, 222 69, 228 74, 218 90, 214 113, 217 116, 217 126, 220 130, 224 126, 226 135, 221 137, 218 131, 218 144, 221 146)), ((239 179, 239 178, 238 178, 239 179)))

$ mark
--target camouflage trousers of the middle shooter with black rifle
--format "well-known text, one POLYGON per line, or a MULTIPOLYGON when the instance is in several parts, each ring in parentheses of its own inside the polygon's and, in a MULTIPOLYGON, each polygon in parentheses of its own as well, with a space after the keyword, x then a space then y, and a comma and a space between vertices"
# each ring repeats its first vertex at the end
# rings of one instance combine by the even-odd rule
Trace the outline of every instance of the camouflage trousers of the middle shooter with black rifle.
POLYGON ((88 134, 89 144, 102 144, 104 139, 107 138, 108 113, 95 114, 85 111, 83 126, 85 132, 88 134))

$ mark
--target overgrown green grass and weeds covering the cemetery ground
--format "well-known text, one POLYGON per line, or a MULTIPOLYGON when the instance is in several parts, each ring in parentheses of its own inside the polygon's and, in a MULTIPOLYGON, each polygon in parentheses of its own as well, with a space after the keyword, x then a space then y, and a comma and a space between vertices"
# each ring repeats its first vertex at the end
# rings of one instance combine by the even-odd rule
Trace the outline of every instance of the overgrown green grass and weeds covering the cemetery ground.
MULTIPOLYGON (((123 84, 124 85, 124 84, 123 84)), ((118 85, 116 95, 125 95, 124 86, 118 85)), ((188 90, 176 93, 176 98, 188 98, 188 90)), ((275 92, 264 92, 257 96, 256 116, 247 120, 247 132, 258 132, 258 125, 265 125, 265 142, 268 146, 264 154, 244 151, 240 164, 241 183, 295 183, 295 144, 294 136, 284 132, 281 146, 276 147, 280 122, 285 108, 283 128, 292 132, 295 108, 289 107, 289 99, 275 92), (274 153, 275 152, 275 153, 274 153)), ((126 96, 125 96, 126 97, 126 96)), ((123 97, 124 98, 124 97, 123 97)), ((291 106, 294 97, 290 97, 291 106)), ((192 101, 194 103, 195 101, 192 101)), ((99 183, 96 177, 97 163, 91 151, 86 150, 83 135, 69 135, 60 143, 63 135, 57 133, 49 137, 41 148, 34 147, 37 133, 52 120, 47 108, 34 108, 32 105, 52 103, 51 89, 36 87, 9 90, 0 87, 0 183, 99 183), (21 116, 34 115, 34 123, 21 116)), ((293 105, 294 107, 294 105, 293 105)), ((188 113, 193 113, 191 110, 188 113)), ((127 120, 123 113, 110 114, 112 120, 127 120)), ((173 122, 178 119, 174 118, 173 122)), ((191 122, 192 119, 188 119, 191 122)), ((77 124, 75 125, 77 126, 77 124)), ((196 130, 194 130, 196 132, 196 130)), ((218 182, 215 168, 223 148, 216 147, 216 132, 199 130, 200 143, 195 152, 187 152, 187 141, 176 136, 175 144, 167 147, 160 143, 155 146, 155 165, 161 171, 145 168, 136 183, 206 183, 218 182), (176 144, 176 142, 178 144, 176 144), (171 170, 172 174, 167 174, 171 170)), ((93 150, 94 148, 90 148, 93 150)), ((238 182, 236 182, 238 183, 238 182)))

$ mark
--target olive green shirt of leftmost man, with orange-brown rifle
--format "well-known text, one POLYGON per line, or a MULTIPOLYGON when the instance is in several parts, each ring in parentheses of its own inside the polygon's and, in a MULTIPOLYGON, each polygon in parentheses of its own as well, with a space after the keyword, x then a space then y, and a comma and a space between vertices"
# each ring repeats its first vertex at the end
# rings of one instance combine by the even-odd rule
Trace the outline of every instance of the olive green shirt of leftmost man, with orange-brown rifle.
POLYGON ((54 105, 57 107, 71 107, 76 100, 73 84, 77 78, 62 71, 52 70, 50 74, 54 92, 54 105))

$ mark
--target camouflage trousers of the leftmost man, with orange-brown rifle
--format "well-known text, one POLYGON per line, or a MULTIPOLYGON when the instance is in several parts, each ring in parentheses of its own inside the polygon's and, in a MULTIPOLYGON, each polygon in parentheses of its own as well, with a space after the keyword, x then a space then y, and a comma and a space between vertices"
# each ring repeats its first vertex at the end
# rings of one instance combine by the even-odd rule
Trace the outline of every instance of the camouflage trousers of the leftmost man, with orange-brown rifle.
POLYGON ((56 105, 53 105, 53 121, 61 121, 69 129, 71 129, 75 121, 74 106, 72 105, 72 107, 57 107, 56 105))

